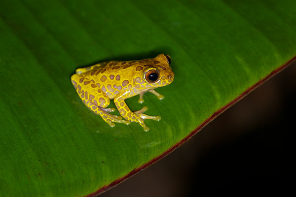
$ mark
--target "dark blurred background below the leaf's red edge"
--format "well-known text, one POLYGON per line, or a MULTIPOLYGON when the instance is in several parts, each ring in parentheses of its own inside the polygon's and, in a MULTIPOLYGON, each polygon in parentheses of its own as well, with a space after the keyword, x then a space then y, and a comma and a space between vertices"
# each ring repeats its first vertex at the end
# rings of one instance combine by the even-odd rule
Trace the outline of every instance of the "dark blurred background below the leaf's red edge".
POLYGON ((296 62, 101 197, 295 194, 296 62))

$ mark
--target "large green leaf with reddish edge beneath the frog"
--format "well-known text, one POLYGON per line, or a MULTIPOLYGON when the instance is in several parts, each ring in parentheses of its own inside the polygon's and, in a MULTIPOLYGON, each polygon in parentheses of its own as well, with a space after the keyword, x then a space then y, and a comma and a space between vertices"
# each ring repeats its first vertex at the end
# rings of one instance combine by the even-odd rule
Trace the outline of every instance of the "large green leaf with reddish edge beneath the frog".
POLYGON ((296 56, 295 6, 1 0, 0 196, 95 195, 162 158, 296 56), (175 80, 157 89, 165 99, 144 96, 162 117, 148 132, 110 128, 70 82, 77 67, 159 53, 175 80))

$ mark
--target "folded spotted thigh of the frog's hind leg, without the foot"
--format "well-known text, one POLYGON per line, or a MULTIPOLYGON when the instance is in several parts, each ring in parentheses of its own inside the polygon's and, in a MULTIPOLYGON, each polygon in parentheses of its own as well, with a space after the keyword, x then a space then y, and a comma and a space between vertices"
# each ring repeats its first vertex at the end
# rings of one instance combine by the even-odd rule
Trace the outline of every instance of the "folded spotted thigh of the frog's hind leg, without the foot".
POLYGON ((95 110, 98 107, 105 108, 110 104, 110 99, 94 81, 78 74, 72 75, 71 81, 80 99, 85 105, 91 106, 91 110, 95 110))

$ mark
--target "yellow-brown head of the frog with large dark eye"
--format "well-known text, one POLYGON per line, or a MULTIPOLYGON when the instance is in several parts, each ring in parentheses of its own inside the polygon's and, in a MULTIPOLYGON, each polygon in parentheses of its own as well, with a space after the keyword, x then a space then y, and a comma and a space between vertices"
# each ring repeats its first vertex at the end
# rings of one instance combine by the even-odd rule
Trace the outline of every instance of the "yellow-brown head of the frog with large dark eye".
POLYGON ((142 79, 146 82, 146 88, 169 85, 174 80, 174 72, 170 67, 171 58, 160 54, 156 58, 149 59, 144 65, 142 79))

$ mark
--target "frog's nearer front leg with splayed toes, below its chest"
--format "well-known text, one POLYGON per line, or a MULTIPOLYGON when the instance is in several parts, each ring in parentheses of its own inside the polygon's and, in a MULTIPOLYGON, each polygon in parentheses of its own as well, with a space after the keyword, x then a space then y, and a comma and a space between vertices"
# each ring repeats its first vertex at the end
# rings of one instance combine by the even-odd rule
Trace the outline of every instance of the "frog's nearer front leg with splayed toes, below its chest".
POLYGON ((138 122, 143 127, 144 131, 149 131, 149 128, 145 125, 144 120, 152 119, 159 121, 160 116, 148 116, 146 114, 143 114, 143 112, 145 112, 148 107, 143 107, 139 111, 132 112, 124 101, 124 99, 128 99, 130 97, 132 97, 130 96, 130 90, 125 90, 125 92, 122 92, 122 94, 118 94, 118 96, 114 98, 116 108, 123 118, 132 122, 138 122))

